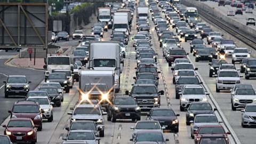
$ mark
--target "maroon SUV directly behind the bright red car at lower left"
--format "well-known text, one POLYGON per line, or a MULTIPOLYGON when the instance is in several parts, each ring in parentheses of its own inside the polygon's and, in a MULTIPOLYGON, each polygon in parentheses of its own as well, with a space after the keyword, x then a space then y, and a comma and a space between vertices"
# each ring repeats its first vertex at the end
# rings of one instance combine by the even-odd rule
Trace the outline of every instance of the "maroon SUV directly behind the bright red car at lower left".
POLYGON ((31 118, 33 123, 38 125, 38 131, 42 130, 43 113, 44 110, 40 109, 38 102, 34 101, 17 101, 14 103, 12 110, 8 110, 11 113, 11 118, 31 118))

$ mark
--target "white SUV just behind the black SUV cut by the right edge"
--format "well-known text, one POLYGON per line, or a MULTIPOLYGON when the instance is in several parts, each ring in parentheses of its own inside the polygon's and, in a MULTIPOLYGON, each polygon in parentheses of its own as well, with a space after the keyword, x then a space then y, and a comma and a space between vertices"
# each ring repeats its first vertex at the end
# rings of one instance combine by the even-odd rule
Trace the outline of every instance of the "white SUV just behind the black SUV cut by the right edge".
POLYGON ((232 54, 232 63, 235 64, 237 61, 242 62, 244 58, 250 58, 250 53, 245 47, 236 48, 232 54))

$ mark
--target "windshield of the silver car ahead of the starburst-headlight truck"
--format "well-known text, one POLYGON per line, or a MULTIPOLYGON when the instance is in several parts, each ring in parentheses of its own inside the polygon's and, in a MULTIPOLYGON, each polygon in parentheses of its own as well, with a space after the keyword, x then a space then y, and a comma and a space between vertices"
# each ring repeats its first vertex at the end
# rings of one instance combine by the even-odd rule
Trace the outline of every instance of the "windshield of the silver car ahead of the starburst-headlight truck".
POLYGON ((77 107, 73 115, 101 115, 98 107, 77 107))

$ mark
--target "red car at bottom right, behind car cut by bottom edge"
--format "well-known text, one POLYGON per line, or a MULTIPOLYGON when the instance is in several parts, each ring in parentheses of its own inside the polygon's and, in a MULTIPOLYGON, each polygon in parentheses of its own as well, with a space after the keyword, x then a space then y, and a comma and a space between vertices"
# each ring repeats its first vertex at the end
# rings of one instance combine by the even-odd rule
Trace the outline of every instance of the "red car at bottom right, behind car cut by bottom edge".
POLYGON ((212 134, 213 136, 218 136, 218 135, 225 135, 225 139, 227 143, 229 142, 228 139, 228 134, 230 132, 225 132, 223 127, 221 125, 202 125, 200 126, 197 131, 194 132, 194 139, 195 139, 195 144, 198 144, 200 138, 202 137, 202 134, 212 134))

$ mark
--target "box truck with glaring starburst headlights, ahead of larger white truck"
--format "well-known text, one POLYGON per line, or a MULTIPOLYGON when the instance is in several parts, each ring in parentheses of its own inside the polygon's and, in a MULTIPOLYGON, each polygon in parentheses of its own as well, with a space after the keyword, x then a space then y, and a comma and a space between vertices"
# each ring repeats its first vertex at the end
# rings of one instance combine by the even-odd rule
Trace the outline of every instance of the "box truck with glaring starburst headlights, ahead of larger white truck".
POLYGON ((106 107, 115 94, 113 70, 81 70, 79 75, 79 100, 98 99, 106 107))

